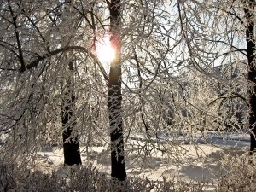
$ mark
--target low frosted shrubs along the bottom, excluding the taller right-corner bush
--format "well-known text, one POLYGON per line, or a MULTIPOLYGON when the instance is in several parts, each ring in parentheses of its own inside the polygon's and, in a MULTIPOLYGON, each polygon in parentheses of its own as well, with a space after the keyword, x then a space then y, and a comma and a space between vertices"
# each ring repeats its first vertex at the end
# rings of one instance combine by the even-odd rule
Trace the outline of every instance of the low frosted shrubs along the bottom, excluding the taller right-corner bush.
POLYGON ((175 178, 172 181, 149 181, 146 178, 128 178, 126 182, 113 180, 97 172, 92 166, 66 166, 62 177, 53 172, 30 172, 17 166, 1 164, 0 190, 6 192, 183 192, 202 191, 203 183, 185 183, 175 178))

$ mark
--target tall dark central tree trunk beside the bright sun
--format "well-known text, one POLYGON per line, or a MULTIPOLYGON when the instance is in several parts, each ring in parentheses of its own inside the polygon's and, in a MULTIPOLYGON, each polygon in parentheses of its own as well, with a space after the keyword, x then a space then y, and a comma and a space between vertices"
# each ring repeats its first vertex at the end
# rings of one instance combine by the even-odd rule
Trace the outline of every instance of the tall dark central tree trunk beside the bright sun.
POLYGON ((116 58, 112 61, 108 82, 108 118, 111 140, 111 177, 125 181, 125 151, 122 119, 122 70, 120 53, 120 0, 112 0, 109 4, 111 43, 116 49, 116 58))

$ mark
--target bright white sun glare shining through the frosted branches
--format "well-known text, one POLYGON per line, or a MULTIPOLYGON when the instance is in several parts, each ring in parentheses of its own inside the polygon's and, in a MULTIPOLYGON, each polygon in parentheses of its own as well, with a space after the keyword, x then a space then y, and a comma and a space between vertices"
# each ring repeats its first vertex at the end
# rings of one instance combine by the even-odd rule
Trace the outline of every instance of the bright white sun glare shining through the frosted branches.
POLYGON ((95 42, 96 56, 104 65, 109 65, 115 57, 115 49, 110 41, 109 35, 97 38, 95 42))

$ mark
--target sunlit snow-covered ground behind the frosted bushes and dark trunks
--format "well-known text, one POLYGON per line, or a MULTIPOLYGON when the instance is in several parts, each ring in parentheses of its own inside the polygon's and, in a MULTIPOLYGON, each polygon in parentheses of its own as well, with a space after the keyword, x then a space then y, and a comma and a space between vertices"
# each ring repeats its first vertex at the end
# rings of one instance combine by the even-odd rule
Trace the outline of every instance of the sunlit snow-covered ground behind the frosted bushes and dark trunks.
MULTIPOLYGON (((178 148, 186 151, 180 160, 185 163, 174 163, 172 158, 167 159, 161 152, 154 152, 151 157, 137 158, 137 154, 126 155, 126 171, 128 177, 147 177, 151 180, 162 180, 163 177, 179 176, 183 179, 201 180, 214 179, 220 170, 221 157, 224 154, 232 156, 246 153, 250 146, 249 135, 229 134, 225 133, 215 135, 214 133, 207 134, 207 142, 205 143, 202 137, 194 138, 198 141, 197 145, 191 145, 186 138, 179 138, 178 148), (201 157, 201 160, 199 160, 201 157)), ((131 137, 133 144, 143 143, 143 138, 139 139, 131 137)), ((128 150, 129 148, 126 148, 128 150)), ((180 150, 180 151, 182 151, 180 150)), ((102 147, 81 147, 81 155, 83 164, 92 164, 96 166, 98 171, 105 172, 110 175, 110 156, 108 148, 102 147)), ((65 175, 61 169, 63 165, 63 152, 61 148, 47 148, 38 153, 38 163, 44 172, 51 172, 52 169, 58 170, 60 175, 65 175)), ((39 167, 39 166, 38 166, 39 167)), ((211 188, 207 189, 211 191, 211 188)))

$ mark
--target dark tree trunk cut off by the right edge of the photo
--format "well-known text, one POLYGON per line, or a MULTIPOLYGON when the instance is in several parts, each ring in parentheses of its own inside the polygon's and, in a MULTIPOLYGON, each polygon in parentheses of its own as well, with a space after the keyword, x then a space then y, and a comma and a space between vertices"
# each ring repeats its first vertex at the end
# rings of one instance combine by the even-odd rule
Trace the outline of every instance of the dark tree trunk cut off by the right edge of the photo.
POLYGON ((245 16, 247 18, 247 61, 248 61, 248 83, 252 86, 248 89, 248 123, 251 130, 250 154, 256 150, 256 67, 255 67, 255 37, 254 37, 254 0, 244 2, 245 16))

